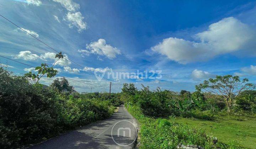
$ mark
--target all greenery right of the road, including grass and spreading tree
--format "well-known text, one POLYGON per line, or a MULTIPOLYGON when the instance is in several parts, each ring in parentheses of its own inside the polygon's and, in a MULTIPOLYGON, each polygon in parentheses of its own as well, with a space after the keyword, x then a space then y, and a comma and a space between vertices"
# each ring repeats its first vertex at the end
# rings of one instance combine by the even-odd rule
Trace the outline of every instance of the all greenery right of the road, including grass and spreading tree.
POLYGON ((256 91, 248 81, 217 76, 193 93, 125 83, 121 100, 140 124, 140 148, 254 148, 256 91))

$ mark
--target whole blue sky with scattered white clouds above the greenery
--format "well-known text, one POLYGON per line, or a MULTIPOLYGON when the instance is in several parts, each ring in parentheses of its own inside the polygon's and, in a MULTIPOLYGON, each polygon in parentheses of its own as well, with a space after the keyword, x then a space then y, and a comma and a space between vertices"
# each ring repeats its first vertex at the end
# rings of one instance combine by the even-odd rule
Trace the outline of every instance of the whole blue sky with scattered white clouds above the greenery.
MULTIPOLYGON (((110 78, 113 92, 125 82, 193 91, 216 75, 239 75, 256 83, 255 6, 256 1, 246 0, 0 0, 0 14, 106 79, 108 72, 161 71, 154 75, 160 79, 110 78)), ((10 22, 0 18, 0 27, 0 55, 32 66, 54 62, 53 50, 10 22)), ((0 62, 16 74, 33 71, 4 58, 0 62)), ((109 84, 67 59, 55 68, 81 82, 109 84)), ((84 83, 70 84, 79 92, 91 90, 84 83)))

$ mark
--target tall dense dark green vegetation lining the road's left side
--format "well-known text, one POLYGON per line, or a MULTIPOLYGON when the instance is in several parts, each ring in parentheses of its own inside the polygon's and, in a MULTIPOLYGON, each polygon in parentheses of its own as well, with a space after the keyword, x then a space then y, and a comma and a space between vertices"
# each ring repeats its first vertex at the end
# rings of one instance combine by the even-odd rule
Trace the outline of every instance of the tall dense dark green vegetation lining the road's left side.
POLYGON ((34 78, 56 72, 41 68, 42 75, 17 76, 0 67, 0 148, 26 147, 108 118, 121 103, 118 93, 109 99, 108 93, 75 92, 65 78, 43 87, 34 78))

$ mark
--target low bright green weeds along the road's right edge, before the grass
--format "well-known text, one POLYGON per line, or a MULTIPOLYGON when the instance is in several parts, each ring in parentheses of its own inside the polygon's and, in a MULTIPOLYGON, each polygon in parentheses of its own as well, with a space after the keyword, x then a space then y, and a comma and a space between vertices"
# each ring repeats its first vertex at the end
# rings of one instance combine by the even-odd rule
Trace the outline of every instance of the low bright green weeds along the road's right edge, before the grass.
POLYGON ((167 120, 146 117, 136 105, 130 106, 128 111, 140 123, 140 148, 176 149, 180 144, 196 144, 204 148, 215 147, 213 138, 204 130, 176 123, 173 118, 167 120))

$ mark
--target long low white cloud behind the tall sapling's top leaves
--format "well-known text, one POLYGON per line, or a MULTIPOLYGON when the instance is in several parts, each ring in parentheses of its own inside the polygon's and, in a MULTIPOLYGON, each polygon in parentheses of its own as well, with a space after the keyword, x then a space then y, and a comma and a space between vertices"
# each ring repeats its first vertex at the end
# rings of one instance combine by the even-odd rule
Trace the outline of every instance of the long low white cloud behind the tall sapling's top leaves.
MULTIPOLYGON (((20 51, 18 55, 16 55, 15 59, 23 59, 27 61, 32 61, 32 60, 58 60, 58 58, 55 58, 55 53, 50 53, 47 52, 45 54, 37 55, 37 54, 32 54, 31 51, 20 51)), ((60 66, 69 66, 71 62, 68 60, 68 55, 63 54, 65 57, 63 59, 59 59, 55 65, 60 65, 60 66)))

